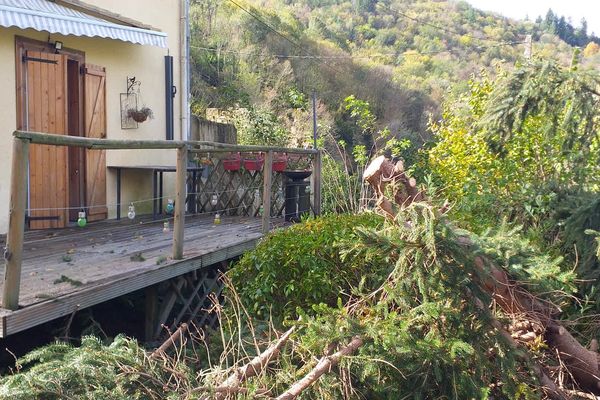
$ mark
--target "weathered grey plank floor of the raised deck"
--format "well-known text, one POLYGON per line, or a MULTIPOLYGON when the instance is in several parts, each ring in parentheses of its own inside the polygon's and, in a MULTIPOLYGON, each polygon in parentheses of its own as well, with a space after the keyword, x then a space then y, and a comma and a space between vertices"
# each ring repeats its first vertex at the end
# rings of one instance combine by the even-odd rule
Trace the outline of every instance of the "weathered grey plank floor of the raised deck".
POLYGON ((26 232, 19 309, 0 309, 0 337, 236 257, 262 237, 260 218, 186 217, 184 258, 173 260, 162 228, 125 219, 26 232))

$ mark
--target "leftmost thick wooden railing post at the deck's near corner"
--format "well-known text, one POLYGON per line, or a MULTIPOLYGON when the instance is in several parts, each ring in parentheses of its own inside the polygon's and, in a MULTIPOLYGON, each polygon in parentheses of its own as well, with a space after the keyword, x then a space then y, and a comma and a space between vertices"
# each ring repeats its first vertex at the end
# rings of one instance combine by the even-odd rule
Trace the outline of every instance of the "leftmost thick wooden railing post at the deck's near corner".
POLYGON ((29 142, 21 139, 13 140, 8 235, 4 250, 4 286, 2 288, 2 307, 9 310, 19 308, 27 202, 27 166, 29 163, 29 142))

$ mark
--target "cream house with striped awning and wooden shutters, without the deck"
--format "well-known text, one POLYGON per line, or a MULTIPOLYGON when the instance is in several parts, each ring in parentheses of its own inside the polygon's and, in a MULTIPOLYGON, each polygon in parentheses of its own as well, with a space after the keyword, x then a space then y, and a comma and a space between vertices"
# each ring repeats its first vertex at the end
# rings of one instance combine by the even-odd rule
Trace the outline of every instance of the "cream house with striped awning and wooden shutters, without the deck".
MULTIPOLYGON (((188 139, 186 15, 186 0, 0 0, 0 233, 15 130, 188 139), (137 123, 129 110, 142 107, 154 118, 137 123)), ((175 165, 175 152, 32 145, 29 228, 68 226, 82 210, 88 221, 114 217, 111 166, 149 164, 175 165)), ((152 197, 147 172, 122 179, 121 208, 152 197)), ((165 185, 168 193, 173 184, 165 185)))

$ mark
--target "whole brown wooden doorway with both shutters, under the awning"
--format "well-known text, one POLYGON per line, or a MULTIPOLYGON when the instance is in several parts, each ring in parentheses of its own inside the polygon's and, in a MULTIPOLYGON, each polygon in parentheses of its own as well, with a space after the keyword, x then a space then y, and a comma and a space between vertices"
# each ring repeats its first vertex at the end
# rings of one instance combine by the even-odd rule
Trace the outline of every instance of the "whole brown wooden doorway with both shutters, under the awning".
MULTIPOLYGON (((56 135, 106 137, 106 71, 72 49, 55 54, 47 43, 17 38, 19 129, 56 135)), ((105 219, 106 152, 32 145, 28 217, 31 229, 61 228, 86 211, 105 219)))

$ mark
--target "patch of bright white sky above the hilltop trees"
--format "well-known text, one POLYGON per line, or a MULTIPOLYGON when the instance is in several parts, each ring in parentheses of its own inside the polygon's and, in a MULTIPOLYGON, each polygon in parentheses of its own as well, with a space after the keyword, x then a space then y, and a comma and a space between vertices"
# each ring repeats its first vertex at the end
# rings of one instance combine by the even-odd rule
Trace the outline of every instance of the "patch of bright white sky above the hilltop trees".
POLYGON ((494 11, 515 19, 535 20, 542 18, 551 8, 555 14, 571 17, 572 24, 579 27, 581 18, 588 22, 588 33, 600 36, 600 0, 467 0, 475 8, 494 11))

